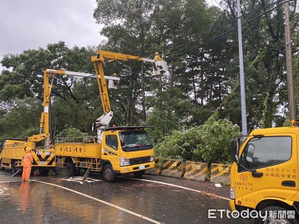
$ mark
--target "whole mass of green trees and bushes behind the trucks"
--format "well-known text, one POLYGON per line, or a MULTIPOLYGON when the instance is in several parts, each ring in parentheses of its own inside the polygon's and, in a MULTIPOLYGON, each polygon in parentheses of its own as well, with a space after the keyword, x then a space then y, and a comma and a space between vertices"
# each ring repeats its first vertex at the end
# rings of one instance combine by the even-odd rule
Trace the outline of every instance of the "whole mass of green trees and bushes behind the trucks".
MULTIPOLYGON (((236 17, 236 5, 230 0, 220 1, 221 8, 209 6, 205 0, 96 2, 93 16, 96 22, 104 24, 101 34, 107 38, 97 48, 68 48, 59 41, 46 48, 3 56, 0 139, 39 133, 44 69, 94 73, 90 56, 95 55, 96 49, 142 56, 236 17)), ((266 3, 271 2, 274 0, 266 3)), ((264 3, 243 0, 242 13, 264 3)), ((292 36, 297 51, 299 13, 295 8, 291 3, 292 36)), ((280 6, 242 27, 247 120, 252 128, 270 127, 273 123, 280 126, 289 116, 282 19, 280 6)), ((163 48, 159 53, 168 62, 169 74, 161 79, 150 74, 149 63, 144 63, 144 83, 139 61, 105 63, 105 75, 118 73, 121 78, 118 90, 109 90, 114 112, 111 124, 153 125, 149 134, 157 142, 158 156, 229 162, 230 141, 239 131, 233 124, 241 126, 237 32, 171 58, 234 26, 226 24, 163 48)), ((294 55, 294 74, 298 101, 299 54, 294 55)), ((102 115, 96 80, 55 76, 51 102, 53 129, 60 136, 95 134, 91 133, 91 124, 102 115), (72 133, 75 129, 80 133, 72 133)))

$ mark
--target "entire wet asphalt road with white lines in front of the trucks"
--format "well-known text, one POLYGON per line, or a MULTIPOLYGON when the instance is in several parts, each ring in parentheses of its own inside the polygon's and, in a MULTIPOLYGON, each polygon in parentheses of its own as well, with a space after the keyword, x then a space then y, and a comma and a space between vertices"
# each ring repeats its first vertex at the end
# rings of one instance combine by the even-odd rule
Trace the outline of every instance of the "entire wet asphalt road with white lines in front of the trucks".
POLYGON ((20 176, 0 171, 0 223, 252 223, 208 219, 208 209, 229 209, 229 203, 198 192, 202 190, 198 182, 154 176, 136 180, 129 176, 107 183, 96 174, 82 181, 69 180, 60 173, 56 177, 50 171, 46 177, 37 174, 30 177, 31 182, 20 182, 20 176))

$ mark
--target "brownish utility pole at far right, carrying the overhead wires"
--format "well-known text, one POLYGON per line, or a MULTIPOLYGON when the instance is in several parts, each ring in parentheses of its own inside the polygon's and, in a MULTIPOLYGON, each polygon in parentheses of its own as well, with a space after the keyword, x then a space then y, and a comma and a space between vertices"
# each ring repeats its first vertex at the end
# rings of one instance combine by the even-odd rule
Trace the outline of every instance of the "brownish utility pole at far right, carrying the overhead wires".
POLYGON ((286 40, 289 112, 290 112, 290 119, 295 120, 297 118, 297 114, 296 114, 296 102, 295 102, 295 90, 294 90, 294 78, 293 78, 293 58, 292 58, 292 40, 291 40, 289 3, 284 4, 284 14, 285 14, 285 40, 286 40))

